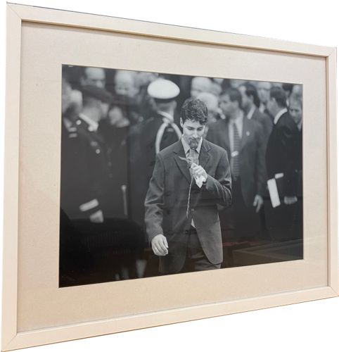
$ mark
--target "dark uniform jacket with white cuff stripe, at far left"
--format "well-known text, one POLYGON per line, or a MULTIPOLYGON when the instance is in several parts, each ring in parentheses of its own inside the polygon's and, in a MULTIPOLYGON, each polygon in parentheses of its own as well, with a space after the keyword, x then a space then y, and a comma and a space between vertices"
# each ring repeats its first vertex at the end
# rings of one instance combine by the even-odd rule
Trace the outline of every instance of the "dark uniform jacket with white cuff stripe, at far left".
POLYGON ((78 119, 71 132, 63 127, 61 206, 70 220, 89 219, 98 210, 110 212, 111 165, 103 137, 78 119))

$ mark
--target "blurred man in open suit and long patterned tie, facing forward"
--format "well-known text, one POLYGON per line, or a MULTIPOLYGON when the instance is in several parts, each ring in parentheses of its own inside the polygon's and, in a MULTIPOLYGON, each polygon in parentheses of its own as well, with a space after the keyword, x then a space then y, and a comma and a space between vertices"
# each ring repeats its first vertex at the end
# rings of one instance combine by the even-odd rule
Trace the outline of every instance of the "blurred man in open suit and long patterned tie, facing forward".
POLYGON ((233 203, 222 213, 224 240, 252 239, 260 235, 265 185, 262 126, 245 117, 236 88, 223 92, 219 105, 226 120, 211 125, 207 139, 224 148, 231 163, 233 203))

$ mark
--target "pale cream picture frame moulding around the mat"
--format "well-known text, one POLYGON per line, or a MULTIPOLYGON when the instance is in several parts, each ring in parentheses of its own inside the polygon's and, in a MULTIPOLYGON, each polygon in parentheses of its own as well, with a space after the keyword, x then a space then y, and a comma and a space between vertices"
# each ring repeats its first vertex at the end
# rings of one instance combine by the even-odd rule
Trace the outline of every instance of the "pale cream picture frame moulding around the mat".
POLYGON ((282 306, 338 296, 338 186, 336 141, 336 49, 284 42, 275 39, 147 23, 103 15, 72 13, 22 5, 7 5, 6 125, 4 168, 4 275, 1 350, 51 344, 143 327, 166 325, 212 316, 282 306), (306 54, 326 58, 327 165, 328 165, 328 286, 283 294, 239 299, 188 308, 84 322, 18 332, 18 209, 20 133, 20 56, 23 22, 138 34, 151 38, 185 40, 220 46, 274 51, 276 54, 306 54))

